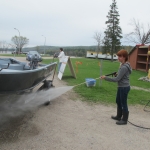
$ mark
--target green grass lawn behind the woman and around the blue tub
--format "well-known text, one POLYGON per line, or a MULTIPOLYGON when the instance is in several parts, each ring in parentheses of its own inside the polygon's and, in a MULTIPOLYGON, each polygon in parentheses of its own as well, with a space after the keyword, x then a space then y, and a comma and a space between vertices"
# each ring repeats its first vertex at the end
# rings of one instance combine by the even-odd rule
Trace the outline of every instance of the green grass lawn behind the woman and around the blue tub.
MULTIPOLYGON (((57 60, 57 59, 55 59, 57 60)), ((48 63, 51 60, 44 60, 43 62, 48 63)), ((98 65, 100 60, 87 59, 87 58, 75 58, 71 59, 74 70, 76 71, 75 62, 80 61, 82 65, 78 65, 78 72, 76 73, 77 79, 71 76, 69 67, 67 65, 65 73, 63 75, 64 81, 68 85, 74 86, 85 82, 85 78, 98 78, 100 76, 100 67, 98 65)), ((102 63, 103 75, 115 72, 119 68, 119 62, 111 62, 103 60, 102 63)), ((130 76, 131 86, 138 86, 142 88, 149 88, 150 83, 139 81, 138 79, 142 76, 147 76, 147 73, 133 70, 130 76)), ((117 85, 113 82, 103 80, 100 86, 100 80, 98 79, 95 87, 87 87, 86 84, 82 84, 74 88, 74 90, 80 94, 84 100, 92 102, 105 102, 114 103, 116 97, 117 85)), ((129 104, 140 104, 140 100, 148 100, 149 92, 131 90, 128 97, 129 104)))

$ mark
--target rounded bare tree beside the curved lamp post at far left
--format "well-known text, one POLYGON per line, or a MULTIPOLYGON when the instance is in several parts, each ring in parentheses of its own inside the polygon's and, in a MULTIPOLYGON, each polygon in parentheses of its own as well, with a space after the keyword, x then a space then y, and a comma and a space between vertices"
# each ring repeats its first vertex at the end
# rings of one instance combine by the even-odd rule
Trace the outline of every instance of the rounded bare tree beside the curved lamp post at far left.
POLYGON ((23 36, 14 36, 11 41, 16 45, 16 49, 19 53, 22 51, 22 48, 29 43, 29 39, 23 36))

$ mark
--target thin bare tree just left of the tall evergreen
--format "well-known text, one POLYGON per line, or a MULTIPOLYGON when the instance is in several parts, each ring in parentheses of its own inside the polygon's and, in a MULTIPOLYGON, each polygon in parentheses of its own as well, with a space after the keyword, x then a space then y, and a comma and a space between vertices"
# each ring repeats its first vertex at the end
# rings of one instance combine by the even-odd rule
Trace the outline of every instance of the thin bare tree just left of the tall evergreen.
POLYGON ((101 32, 96 31, 93 38, 97 42, 97 58, 98 58, 98 53, 101 51, 101 45, 103 43, 103 35, 101 32))

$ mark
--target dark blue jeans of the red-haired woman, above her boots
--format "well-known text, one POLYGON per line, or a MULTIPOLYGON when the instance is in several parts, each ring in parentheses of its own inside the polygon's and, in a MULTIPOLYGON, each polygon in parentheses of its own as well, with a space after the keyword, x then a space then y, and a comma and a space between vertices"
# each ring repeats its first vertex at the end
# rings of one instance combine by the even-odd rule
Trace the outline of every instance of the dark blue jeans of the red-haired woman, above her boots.
POLYGON ((124 112, 128 112, 127 98, 130 91, 130 86, 128 87, 118 87, 116 103, 119 109, 124 112))

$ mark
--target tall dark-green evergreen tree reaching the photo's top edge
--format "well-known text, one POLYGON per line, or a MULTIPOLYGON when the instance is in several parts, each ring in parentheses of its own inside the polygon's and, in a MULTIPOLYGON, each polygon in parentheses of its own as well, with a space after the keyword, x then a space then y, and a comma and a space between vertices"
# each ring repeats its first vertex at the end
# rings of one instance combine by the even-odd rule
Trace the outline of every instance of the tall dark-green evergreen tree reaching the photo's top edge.
POLYGON ((122 30, 119 26, 119 12, 116 0, 112 0, 110 5, 110 11, 108 12, 106 21, 107 28, 104 37, 104 51, 111 53, 111 60, 113 61, 113 54, 116 53, 121 45, 120 39, 122 38, 122 30))

